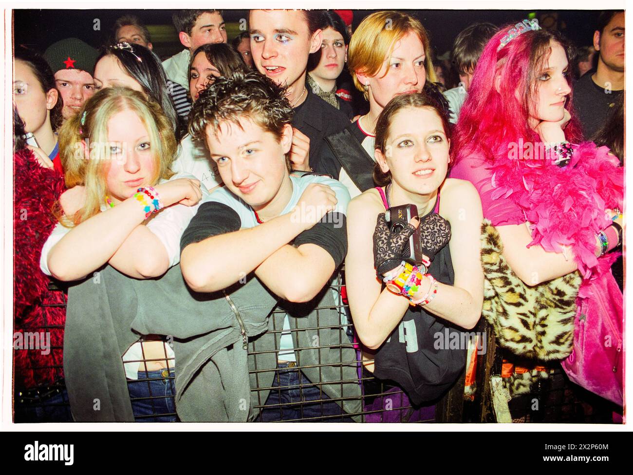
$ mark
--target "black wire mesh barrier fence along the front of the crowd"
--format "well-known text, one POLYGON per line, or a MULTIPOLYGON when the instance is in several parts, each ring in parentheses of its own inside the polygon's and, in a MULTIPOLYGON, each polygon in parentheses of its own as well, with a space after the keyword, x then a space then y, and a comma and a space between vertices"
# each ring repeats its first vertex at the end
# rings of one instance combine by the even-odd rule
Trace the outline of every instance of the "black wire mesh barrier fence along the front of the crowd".
MULTIPOLYGON (((258 369, 258 357, 266 353, 278 350, 258 349, 254 341, 249 357, 254 360, 254 369, 250 374, 256 381, 251 389, 254 407, 260 410, 257 422, 496 422, 494 409, 492 408, 491 376, 499 375, 503 351, 496 346, 494 336, 489 331, 487 323, 483 320, 475 331, 487 334, 487 352, 477 357, 477 376, 475 385, 477 390, 473 399, 464 398, 465 374, 462 374, 453 388, 436 404, 429 407, 413 407, 402 390, 390 381, 381 381, 372 373, 363 368, 360 357, 360 348, 355 341, 353 323, 349 317, 349 308, 344 303, 342 296, 342 273, 335 274, 328 291, 334 296, 334 307, 316 308, 316 326, 301 328, 280 328, 275 315, 285 314, 282 307, 273 310, 270 319, 273 334, 294 334, 299 331, 313 330, 317 334, 321 331, 338 331, 339 341, 328 345, 320 345, 317 338, 315 345, 310 348, 318 351, 318 362, 308 365, 300 360, 300 352, 295 351, 296 361, 280 362, 274 369, 273 384, 266 386, 260 384, 259 375, 271 369, 258 369), (339 315, 338 322, 322 324, 320 311, 332 308, 339 315), (335 367, 340 368, 341 377, 337 381, 327 383, 313 383, 303 374, 318 368, 321 374, 322 367, 326 364, 322 361, 322 351, 326 349, 338 350, 339 358, 335 367), (343 353, 353 352, 354 357, 344 358, 343 353), (354 368, 354 377, 344 377, 344 372, 349 375, 349 368, 354 368), (347 369, 348 371, 344 371, 347 369), (323 390, 324 386, 344 384, 358 384, 360 396, 330 398, 323 390), (263 400, 262 393, 268 392, 268 397, 263 400), (353 401, 351 401, 353 399, 353 401), (356 412, 343 412, 340 404, 357 402, 360 409, 356 412)), ((59 305, 65 305, 59 304, 59 305)), ((294 319, 291 319, 294 320, 294 319)), ((294 320, 295 324, 298 320, 294 320)), ((61 330, 60 326, 39 326, 23 328, 25 331, 50 331, 61 330)), ((150 341, 165 341, 160 336, 145 337, 141 345, 141 358, 127 360, 126 365, 139 364, 139 379, 128 379, 130 401, 134 407, 135 420, 137 422, 151 421, 178 421, 175 412, 175 383, 174 383, 174 358, 168 354, 168 347, 163 343, 163 354, 156 355, 155 348, 152 355, 146 355, 146 345, 150 341)), ((296 341, 296 340, 295 340, 296 341)), ((303 350, 303 347, 294 348, 303 350)), ((61 351, 61 346, 51 348, 61 351)), ((279 360, 291 360, 292 358, 278 357, 279 360)), ((370 363, 366 361, 365 364, 370 363)), ((61 364, 56 366, 61 368, 61 364)), ((37 368, 34 368, 37 369, 37 368)), ((39 369, 43 369, 39 368, 39 369)), ((338 371, 338 370, 337 370, 338 371)), ((15 422, 56 422, 72 421, 70 404, 63 379, 44 388, 30 391, 18 391, 14 399, 15 422)), ((513 422, 612 422, 611 412, 616 410, 613 405, 589 391, 582 390, 579 386, 570 383, 564 372, 559 369, 551 373, 551 377, 537 384, 529 395, 512 400, 510 412, 513 422), (530 410, 534 406, 535 398, 539 401, 539 410, 530 410)))

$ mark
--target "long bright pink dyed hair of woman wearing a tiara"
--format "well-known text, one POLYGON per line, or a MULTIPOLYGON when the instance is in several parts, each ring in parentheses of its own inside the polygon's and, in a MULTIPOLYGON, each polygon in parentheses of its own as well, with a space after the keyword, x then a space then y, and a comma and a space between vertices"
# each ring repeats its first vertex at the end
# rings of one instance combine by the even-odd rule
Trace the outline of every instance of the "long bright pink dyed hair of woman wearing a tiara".
MULTIPOLYGON (((501 28, 486 44, 477 61, 468 97, 453 131, 453 163, 473 154, 495 160, 508 155, 510 142, 518 143, 519 139, 524 143, 539 141, 528 124, 530 108, 536 106, 539 72, 548 61, 551 41, 565 49, 567 58, 571 56, 570 48, 559 32, 536 30, 523 33, 497 51, 501 38, 513 26, 501 28), (495 87, 498 74, 501 76, 499 92, 495 87), (515 96, 517 89, 520 99, 515 96)), ((571 93, 565 108, 572 115, 565 127, 565 137, 577 143, 582 139, 582 130, 573 111, 571 93)))

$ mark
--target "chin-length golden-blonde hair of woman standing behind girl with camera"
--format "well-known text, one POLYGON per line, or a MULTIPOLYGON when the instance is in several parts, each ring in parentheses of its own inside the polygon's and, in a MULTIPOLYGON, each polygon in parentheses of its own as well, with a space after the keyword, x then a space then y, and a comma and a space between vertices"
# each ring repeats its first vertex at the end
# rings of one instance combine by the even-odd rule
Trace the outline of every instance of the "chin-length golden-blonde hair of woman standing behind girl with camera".
POLYGON ((396 41, 409 32, 417 34, 422 42, 426 56, 424 67, 427 79, 430 82, 437 82, 429 51, 429 34, 420 20, 401 11, 377 11, 363 19, 349 42, 349 73, 356 89, 363 91, 365 99, 369 100, 367 92, 356 77, 356 73, 377 75, 385 58, 388 58, 393 51, 396 41))

